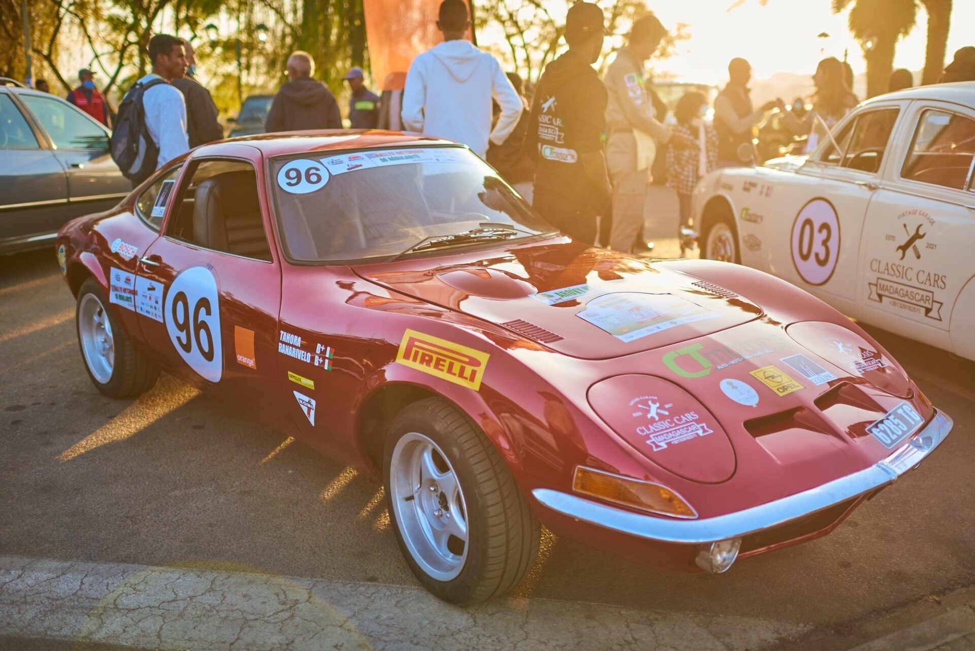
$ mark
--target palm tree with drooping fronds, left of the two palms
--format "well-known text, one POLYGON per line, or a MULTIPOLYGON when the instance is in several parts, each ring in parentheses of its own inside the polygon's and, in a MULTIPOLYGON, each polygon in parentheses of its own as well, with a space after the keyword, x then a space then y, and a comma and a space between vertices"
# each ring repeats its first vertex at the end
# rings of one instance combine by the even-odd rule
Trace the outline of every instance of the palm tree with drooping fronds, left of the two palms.
POLYGON ((916 0, 833 0, 833 13, 850 7, 850 33, 867 61, 867 96, 887 92, 897 41, 917 19, 916 0), (852 5, 852 6, 851 6, 852 5))

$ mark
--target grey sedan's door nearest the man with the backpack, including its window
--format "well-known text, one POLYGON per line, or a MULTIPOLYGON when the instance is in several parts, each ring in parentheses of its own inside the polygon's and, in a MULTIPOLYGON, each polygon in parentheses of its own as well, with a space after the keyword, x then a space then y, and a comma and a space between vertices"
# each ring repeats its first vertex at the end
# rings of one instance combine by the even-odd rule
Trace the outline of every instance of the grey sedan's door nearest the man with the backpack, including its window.
POLYGON ((108 153, 110 132, 90 115, 55 96, 20 96, 51 138, 55 155, 67 172, 72 204, 90 202, 77 214, 104 211, 132 191, 108 153))

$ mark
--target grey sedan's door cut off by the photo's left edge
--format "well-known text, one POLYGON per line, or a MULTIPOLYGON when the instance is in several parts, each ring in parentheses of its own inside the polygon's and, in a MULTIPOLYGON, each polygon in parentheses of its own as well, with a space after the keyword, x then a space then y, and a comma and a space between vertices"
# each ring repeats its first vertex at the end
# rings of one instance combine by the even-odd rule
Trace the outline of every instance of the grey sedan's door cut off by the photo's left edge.
POLYGON ((67 176, 10 93, 0 92, 0 251, 57 231, 67 219, 67 176))

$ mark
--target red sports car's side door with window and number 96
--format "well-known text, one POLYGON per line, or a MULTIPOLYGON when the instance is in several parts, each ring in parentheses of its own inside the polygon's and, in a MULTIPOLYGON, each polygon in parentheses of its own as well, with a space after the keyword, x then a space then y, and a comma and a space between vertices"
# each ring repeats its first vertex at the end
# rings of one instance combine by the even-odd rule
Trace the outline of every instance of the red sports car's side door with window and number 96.
POLYGON ((268 421, 280 417, 281 266, 267 236, 259 153, 221 151, 187 163, 163 236, 139 259, 139 325, 167 370, 268 421))

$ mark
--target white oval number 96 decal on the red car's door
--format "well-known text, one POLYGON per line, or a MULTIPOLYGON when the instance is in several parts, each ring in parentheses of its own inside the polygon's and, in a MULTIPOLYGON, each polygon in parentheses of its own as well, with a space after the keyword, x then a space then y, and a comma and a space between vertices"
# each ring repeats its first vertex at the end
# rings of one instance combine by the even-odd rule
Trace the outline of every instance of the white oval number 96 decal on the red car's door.
POLYGON ((164 314, 179 357, 204 379, 219 382, 223 371, 220 303, 210 269, 190 267, 180 272, 166 291, 164 314))

